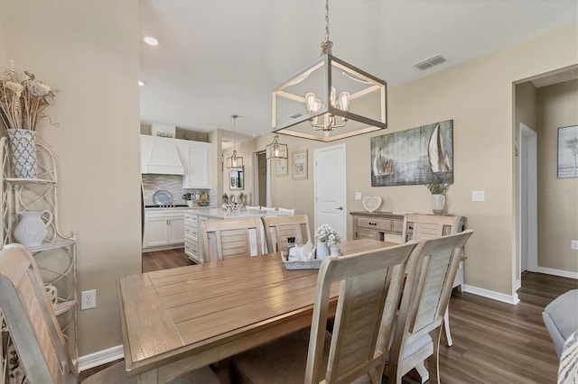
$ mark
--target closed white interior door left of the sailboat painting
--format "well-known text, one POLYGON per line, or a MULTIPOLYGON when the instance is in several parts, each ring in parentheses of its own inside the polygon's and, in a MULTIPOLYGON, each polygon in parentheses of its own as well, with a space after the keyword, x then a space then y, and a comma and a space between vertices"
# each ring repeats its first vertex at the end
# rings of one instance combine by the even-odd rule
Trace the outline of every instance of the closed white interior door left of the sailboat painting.
POLYGON ((347 239, 345 150, 340 144, 313 152, 315 228, 329 224, 342 240, 347 239))

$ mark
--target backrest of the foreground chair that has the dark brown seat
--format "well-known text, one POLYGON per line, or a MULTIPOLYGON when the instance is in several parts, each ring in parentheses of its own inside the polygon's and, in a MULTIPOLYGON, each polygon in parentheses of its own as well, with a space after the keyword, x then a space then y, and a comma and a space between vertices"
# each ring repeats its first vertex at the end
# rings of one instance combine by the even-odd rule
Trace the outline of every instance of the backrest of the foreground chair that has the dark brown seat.
MULTIPOLYGON (((372 256, 364 255, 357 261, 355 258, 341 261, 330 272, 332 277, 329 275, 318 280, 318 285, 324 284, 325 289, 331 288, 332 282, 341 280, 326 381, 350 382, 368 373, 376 382, 380 382, 386 340, 391 333, 401 292, 403 271, 400 266, 405 265, 413 249, 410 243, 408 247, 375 252, 372 256), (389 264, 379 263, 378 258, 387 259, 389 264), (384 269, 387 269, 387 273, 384 273, 384 269), (382 340, 378 339, 380 331, 382 340)), ((330 269, 331 265, 327 268, 330 269)), ((327 305, 325 300, 329 297, 322 298, 319 292, 316 304, 320 302, 327 305)), ((313 314, 313 321, 316 320, 313 314)), ((310 364, 314 365, 312 356, 320 352, 320 348, 315 351, 315 347, 320 345, 322 343, 310 347, 308 368, 310 364)))

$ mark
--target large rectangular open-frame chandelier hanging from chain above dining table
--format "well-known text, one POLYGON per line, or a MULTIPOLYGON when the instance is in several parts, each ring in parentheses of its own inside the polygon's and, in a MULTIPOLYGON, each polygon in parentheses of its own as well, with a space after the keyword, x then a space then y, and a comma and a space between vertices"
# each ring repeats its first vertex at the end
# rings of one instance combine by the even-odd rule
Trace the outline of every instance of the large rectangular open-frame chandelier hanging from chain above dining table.
POLYGON ((272 128, 320 142, 387 128, 387 83, 331 54, 329 0, 322 55, 272 89, 272 128))

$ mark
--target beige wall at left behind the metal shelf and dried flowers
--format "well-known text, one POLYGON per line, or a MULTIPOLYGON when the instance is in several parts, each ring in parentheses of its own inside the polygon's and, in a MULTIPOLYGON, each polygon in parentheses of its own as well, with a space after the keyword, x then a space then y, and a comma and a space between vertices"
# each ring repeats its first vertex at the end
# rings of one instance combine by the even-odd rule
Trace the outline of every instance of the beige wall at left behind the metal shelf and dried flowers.
POLYGON ((54 151, 59 226, 78 231, 79 353, 122 343, 117 279, 141 270, 138 2, 0 1, 0 69, 60 89, 39 127, 54 151))

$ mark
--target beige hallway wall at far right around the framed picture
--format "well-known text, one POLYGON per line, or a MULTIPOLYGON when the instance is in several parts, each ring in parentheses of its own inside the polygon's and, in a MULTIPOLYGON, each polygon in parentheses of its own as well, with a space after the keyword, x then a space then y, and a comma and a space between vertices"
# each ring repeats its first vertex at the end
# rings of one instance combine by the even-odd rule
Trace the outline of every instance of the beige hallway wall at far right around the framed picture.
POLYGON ((557 178, 558 128, 578 125, 578 80, 537 90, 538 266, 578 272, 578 178, 557 178))

